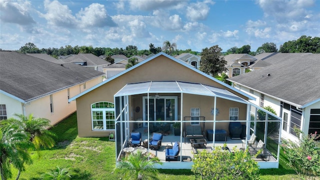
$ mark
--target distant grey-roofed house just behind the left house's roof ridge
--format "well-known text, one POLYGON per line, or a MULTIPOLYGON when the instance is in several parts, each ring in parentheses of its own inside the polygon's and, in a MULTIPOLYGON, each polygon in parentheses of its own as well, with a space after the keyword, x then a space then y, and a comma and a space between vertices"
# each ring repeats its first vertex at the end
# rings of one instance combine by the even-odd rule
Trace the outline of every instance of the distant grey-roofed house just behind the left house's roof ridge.
POLYGON ((101 59, 98 56, 91 53, 78 53, 76 55, 71 55, 61 60, 64 63, 72 62, 100 72, 103 72, 103 67, 111 64, 110 62, 101 59))

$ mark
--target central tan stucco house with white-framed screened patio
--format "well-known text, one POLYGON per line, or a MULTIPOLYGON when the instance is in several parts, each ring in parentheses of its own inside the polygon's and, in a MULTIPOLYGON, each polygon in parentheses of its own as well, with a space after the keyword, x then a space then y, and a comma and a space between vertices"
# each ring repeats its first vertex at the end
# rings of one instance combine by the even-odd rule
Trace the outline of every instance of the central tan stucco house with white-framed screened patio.
MULTIPOLYGON (((255 119, 257 109, 265 111, 269 117, 271 113, 248 101, 255 100, 254 97, 164 52, 106 79, 70 98, 69 101, 75 99, 78 136, 103 137, 115 133, 117 161, 122 156, 124 148, 129 145, 130 133, 137 131, 141 132, 141 138, 145 139, 143 145, 161 161, 165 159, 164 146, 175 141, 180 142, 181 149, 178 155, 181 158, 178 158, 177 162, 164 161, 163 166, 157 168, 191 168, 191 141, 186 143, 188 137, 183 134, 192 135, 188 129, 194 128, 202 130, 199 135, 204 137, 210 136, 209 132, 206 133, 207 130, 224 129, 221 130, 224 133, 223 142, 231 148, 239 141, 239 148, 240 139, 233 141, 226 137, 229 133, 232 134, 233 128, 228 128, 231 124, 239 125, 239 133, 243 133, 247 139, 249 134, 259 133, 258 138, 265 142, 265 147, 269 143, 276 143, 277 150, 274 153, 279 156, 280 138, 276 142, 275 134, 271 141, 267 140, 266 133, 263 132, 267 129, 268 123, 255 119), (170 125, 173 122, 180 124, 177 136, 172 134, 173 127, 170 125), (150 149, 148 139, 151 132, 156 128, 163 129, 167 124, 171 133, 163 133, 166 132, 164 130, 160 149, 150 149), (263 129, 258 131, 257 124, 263 126, 263 129), (184 157, 189 157, 189 160, 185 161, 184 157)), ((269 120, 270 122, 280 123, 280 117, 274 114, 272 116, 275 118, 269 120)), ((212 139, 215 139, 216 133, 212 134, 212 139)), ((208 142, 207 146, 214 144, 213 140, 208 142)), ((246 147, 247 144, 242 145, 246 147)), ((261 168, 277 167, 278 158, 272 156, 269 160, 258 163, 261 168)))

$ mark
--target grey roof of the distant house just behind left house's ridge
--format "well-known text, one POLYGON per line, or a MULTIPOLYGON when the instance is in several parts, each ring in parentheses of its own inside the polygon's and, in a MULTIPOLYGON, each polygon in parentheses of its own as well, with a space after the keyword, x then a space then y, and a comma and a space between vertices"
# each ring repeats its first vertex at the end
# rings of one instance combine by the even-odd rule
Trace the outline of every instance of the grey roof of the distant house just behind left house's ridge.
POLYGON ((101 59, 100 57, 91 53, 78 53, 76 55, 72 55, 61 60, 66 63, 67 62, 86 62, 86 65, 88 66, 110 64, 110 62, 104 59, 101 59))

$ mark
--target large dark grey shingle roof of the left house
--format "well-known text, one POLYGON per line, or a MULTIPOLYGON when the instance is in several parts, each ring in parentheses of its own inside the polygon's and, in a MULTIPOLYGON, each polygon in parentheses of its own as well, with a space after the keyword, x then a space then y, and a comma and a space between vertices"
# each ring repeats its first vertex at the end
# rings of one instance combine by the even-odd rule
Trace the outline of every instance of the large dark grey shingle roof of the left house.
POLYGON ((104 73, 73 63, 52 63, 13 51, 0 51, 0 90, 29 101, 104 73))

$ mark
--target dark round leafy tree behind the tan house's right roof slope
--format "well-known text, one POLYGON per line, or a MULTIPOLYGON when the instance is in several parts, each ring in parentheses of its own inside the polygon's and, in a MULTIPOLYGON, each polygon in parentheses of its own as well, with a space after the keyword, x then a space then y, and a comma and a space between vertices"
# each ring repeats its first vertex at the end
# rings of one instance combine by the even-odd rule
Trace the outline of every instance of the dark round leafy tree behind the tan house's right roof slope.
POLYGON ((226 61, 224 60, 221 51, 222 49, 218 45, 202 49, 199 69, 212 76, 226 71, 226 61))

